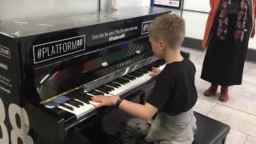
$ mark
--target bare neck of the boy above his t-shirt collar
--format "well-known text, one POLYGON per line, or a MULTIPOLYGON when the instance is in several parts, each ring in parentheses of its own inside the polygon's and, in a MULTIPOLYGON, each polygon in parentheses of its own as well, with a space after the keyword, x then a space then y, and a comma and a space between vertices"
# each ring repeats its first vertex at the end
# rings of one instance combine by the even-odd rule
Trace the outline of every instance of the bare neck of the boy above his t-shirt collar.
POLYGON ((172 62, 182 62, 183 61, 183 57, 182 54, 179 50, 179 48, 175 49, 175 50, 171 50, 168 49, 166 50, 166 63, 172 63, 172 62))

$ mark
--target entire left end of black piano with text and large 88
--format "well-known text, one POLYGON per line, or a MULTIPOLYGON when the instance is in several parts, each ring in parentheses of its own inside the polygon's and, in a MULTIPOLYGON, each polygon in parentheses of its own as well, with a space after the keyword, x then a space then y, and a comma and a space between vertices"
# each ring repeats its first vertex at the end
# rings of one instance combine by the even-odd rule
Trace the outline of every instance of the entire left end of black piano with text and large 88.
POLYGON ((34 143, 26 131, 29 130, 30 119, 22 108, 22 78, 17 47, 14 38, 0 34, 1 144, 34 143))

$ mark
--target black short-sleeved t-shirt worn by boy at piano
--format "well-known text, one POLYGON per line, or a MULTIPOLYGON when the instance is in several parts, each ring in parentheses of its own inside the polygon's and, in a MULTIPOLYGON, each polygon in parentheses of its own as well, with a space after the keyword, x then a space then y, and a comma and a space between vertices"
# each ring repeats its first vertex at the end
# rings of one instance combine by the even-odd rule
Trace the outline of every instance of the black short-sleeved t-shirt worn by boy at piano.
POLYGON ((190 110, 198 99, 194 74, 194 64, 187 58, 166 64, 146 102, 170 115, 190 110))

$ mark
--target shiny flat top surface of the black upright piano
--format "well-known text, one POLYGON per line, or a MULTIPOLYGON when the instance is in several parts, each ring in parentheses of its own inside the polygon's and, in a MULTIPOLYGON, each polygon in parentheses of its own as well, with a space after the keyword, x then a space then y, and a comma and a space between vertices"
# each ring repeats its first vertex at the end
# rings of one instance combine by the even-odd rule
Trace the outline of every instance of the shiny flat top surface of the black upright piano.
POLYGON ((82 26, 93 26, 127 18, 138 18, 149 14, 169 11, 159 7, 132 7, 114 11, 95 11, 94 13, 63 14, 49 17, 21 18, 0 21, 0 34, 12 38, 22 38, 36 34, 46 34, 59 30, 69 30, 82 26))

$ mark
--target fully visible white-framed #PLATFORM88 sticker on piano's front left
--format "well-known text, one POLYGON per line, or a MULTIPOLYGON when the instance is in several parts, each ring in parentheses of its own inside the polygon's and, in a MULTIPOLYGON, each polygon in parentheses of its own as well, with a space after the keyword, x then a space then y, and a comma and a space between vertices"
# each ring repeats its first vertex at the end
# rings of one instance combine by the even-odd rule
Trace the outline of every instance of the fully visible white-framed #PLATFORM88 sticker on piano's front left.
POLYGON ((86 50, 86 35, 33 46, 34 64, 86 50))

